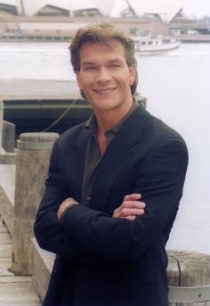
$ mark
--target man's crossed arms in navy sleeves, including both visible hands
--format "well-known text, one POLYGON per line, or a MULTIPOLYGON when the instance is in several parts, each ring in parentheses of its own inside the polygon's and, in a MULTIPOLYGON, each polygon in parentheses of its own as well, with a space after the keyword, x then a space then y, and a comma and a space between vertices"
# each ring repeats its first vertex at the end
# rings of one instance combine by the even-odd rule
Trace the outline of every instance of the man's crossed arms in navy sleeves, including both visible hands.
MULTIPOLYGON (((182 197, 188 162, 182 141, 172 139, 149 154, 137 169, 133 194, 125 195, 112 216, 75 204, 61 218, 69 194, 61 194, 57 150, 55 146, 36 216, 35 233, 41 247, 77 260, 100 256, 133 261, 163 232, 170 231, 167 227, 172 226, 182 197)), ((76 200, 70 197, 70 201, 76 200)))

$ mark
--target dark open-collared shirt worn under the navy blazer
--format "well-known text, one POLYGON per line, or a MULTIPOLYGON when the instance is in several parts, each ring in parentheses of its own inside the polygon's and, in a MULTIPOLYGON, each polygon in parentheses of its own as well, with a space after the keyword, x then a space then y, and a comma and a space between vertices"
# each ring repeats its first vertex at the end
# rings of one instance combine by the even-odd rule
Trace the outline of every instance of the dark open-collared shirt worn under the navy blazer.
MULTIPOLYGON (((136 109, 138 105, 139 103, 134 101, 130 111, 127 112, 126 115, 121 120, 119 120, 119 122, 117 122, 117 125, 104 133, 106 137, 106 151, 108 150, 109 145, 114 139, 114 137, 117 135, 118 130, 122 127, 125 120, 128 119, 128 117, 132 114, 132 112, 136 109)), ((89 120, 86 121, 85 128, 90 133, 90 139, 87 145, 85 157, 85 171, 83 177, 81 203, 85 206, 89 206, 95 174, 106 152, 101 155, 100 147, 97 140, 97 121, 94 114, 90 117, 89 120)))

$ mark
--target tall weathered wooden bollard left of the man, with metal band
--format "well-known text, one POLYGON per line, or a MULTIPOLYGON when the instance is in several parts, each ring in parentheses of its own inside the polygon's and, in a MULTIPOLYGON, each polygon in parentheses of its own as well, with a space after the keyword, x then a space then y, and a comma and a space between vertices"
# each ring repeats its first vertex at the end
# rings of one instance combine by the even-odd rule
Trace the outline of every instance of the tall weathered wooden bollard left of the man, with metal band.
POLYGON ((24 133, 17 144, 12 272, 31 274, 30 238, 57 133, 24 133))

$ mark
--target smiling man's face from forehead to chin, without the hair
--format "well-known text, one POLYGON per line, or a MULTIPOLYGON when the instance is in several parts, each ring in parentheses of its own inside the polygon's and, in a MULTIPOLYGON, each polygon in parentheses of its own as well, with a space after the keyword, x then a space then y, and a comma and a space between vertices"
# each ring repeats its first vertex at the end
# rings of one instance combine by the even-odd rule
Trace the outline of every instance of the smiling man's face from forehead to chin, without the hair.
POLYGON ((134 67, 127 66, 122 43, 112 40, 111 44, 113 47, 87 42, 79 50, 77 83, 86 99, 92 103, 94 112, 120 111, 132 100, 134 67))

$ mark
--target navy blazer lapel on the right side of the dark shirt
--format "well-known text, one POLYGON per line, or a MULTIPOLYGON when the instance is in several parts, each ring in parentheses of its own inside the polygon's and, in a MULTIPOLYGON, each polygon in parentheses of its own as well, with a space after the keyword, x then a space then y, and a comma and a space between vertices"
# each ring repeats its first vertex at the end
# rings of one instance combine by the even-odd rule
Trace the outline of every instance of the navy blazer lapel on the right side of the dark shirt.
POLYGON ((140 105, 125 121, 109 145, 93 182, 93 209, 105 210, 112 186, 131 159, 129 149, 141 141, 141 132, 148 117, 149 112, 140 105))

